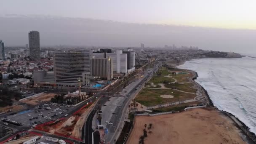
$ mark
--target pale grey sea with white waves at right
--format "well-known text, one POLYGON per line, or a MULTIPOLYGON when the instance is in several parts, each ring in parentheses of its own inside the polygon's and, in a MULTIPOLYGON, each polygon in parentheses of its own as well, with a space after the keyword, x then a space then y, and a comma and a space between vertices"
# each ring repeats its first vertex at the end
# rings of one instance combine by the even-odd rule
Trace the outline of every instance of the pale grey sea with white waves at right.
POLYGON ((194 59, 178 68, 197 72, 195 81, 214 106, 235 115, 256 133, 256 58, 194 59))

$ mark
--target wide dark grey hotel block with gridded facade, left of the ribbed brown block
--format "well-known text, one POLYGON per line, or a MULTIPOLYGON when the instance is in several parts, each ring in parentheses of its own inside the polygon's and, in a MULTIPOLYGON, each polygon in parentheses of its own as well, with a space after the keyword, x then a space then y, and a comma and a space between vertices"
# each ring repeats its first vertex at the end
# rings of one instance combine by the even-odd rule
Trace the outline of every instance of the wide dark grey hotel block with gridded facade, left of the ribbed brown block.
POLYGON ((90 55, 85 52, 54 53, 54 76, 57 86, 89 86, 91 77, 90 55))

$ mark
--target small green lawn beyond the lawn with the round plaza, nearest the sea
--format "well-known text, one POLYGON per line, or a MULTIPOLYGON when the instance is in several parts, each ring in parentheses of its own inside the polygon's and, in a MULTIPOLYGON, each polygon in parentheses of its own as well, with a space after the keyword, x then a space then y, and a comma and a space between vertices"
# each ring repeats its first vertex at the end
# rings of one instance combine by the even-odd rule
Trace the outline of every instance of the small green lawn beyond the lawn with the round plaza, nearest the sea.
POLYGON ((191 86, 193 86, 192 83, 184 83, 184 84, 180 84, 180 83, 171 83, 171 84, 165 84, 166 88, 178 88, 181 91, 186 91, 186 92, 190 92, 190 93, 195 93, 196 89, 195 88, 191 88, 191 86))

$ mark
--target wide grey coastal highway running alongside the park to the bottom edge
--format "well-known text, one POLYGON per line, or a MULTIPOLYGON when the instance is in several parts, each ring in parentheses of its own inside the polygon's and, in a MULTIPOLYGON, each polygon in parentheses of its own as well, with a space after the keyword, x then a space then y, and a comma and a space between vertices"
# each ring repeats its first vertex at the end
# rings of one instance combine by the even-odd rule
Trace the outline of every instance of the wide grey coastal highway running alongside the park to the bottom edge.
MULTIPOLYGON (((110 101, 106 100, 105 103, 103 103, 104 101, 102 101, 101 104, 105 104, 106 106, 103 106, 101 109, 102 111, 101 124, 104 125, 106 128, 108 128, 109 130, 109 133, 105 134, 104 136, 106 143, 110 142, 110 144, 112 144, 114 143, 114 139, 118 138, 123 127, 125 115, 127 115, 126 112, 128 109, 128 104, 130 104, 130 101, 134 99, 134 96, 136 94, 135 89, 143 87, 144 83, 147 80, 149 80, 149 78, 152 77, 153 72, 155 72, 157 68, 158 68, 158 65, 152 68, 151 71, 147 69, 144 72, 143 78, 133 81, 133 83, 129 84, 124 88, 123 91, 125 91, 126 93, 122 92, 122 94, 118 93, 115 95, 111 95, 111 98, 109 99, 110 101), (141 86, 139 87, 139 85, 141 86), (113 123, 113 125, 108 125, 107 123, 105 123, 105 121, 110 121, 111 123, 113 123)), ((86 131, 88 131, 87 133, 85 133, 85 140, 86 140, 85 144, 91 144, 91 137, 92 137, 91 133, 94 132, 91 126, 92 126, 92 123, 95 123, 95 121, 93 121, 93 116, 94 116, 93 113, 96 112, 96 109, 97 108, 95 108, 95 111, 92 111, 90 113, 85 124, 85 129, 86 131)))

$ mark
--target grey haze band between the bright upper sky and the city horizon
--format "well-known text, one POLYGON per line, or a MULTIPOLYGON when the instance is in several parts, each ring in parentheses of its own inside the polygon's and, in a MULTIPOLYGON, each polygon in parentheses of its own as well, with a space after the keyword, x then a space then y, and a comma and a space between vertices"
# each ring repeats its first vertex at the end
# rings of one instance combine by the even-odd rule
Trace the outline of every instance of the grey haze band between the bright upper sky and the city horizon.
POLYGON ((164 47, 195 46, 204 50, 256 53, 256 30, 132 24, 56 16, 0 17, 5 47, 28 43, 27 32, 40 31, 41 46, 164 47), (28 23, 28 21, 30 21, 28 23), (17 30, 16 27, 20 29, 17 30))

